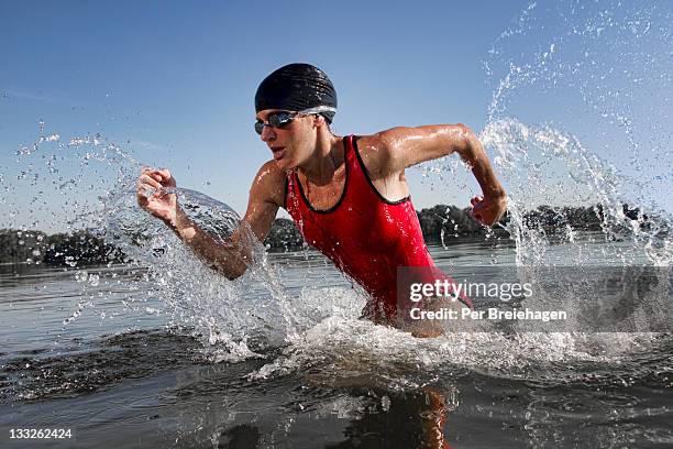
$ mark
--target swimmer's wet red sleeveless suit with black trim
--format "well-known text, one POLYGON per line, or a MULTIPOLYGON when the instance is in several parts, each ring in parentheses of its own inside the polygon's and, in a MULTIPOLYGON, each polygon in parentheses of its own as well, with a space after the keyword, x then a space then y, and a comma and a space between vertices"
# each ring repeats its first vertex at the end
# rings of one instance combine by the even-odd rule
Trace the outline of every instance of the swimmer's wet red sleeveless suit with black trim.
POLYGON ((372 296, 365 314, 374 319, 390 318, 397 309, 397 267, 430 267, 434 262, 411 198, 385 199, 372 184, 357 138, 349 135, 343 141, 345 182, 339 201, 328 210, 315 209, 293 171, 286 184, 285 208, 305 240, 372 296))

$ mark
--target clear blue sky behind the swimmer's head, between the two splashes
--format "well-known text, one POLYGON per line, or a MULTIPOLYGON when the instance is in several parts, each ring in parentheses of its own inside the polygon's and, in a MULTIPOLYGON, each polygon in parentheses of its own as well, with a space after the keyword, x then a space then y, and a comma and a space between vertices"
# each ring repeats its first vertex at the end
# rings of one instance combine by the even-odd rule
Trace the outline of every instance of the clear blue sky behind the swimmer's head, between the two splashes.
MULTIPOLYGON (((340 135, 455 122, 478 132, 497 88, 489 51, 531 4, 0 0, 0 175, 14 176, 14 152, 42 134, 42 121, 64 142, 100 134, 242 213, 271 158, 253 131, 254 94, 271 72, 322 68, 336 87, 340 135)), ((539 25, 558 20, 542 14, 539 25)), ((537 44, 512 40, 508 51, 537 44)), ((562 109, 538 101, 521 116, 582 133, 582 118, 562 109)), ((478 193, 467 176, 408 177, 419 209, 464 207, 478 193)))

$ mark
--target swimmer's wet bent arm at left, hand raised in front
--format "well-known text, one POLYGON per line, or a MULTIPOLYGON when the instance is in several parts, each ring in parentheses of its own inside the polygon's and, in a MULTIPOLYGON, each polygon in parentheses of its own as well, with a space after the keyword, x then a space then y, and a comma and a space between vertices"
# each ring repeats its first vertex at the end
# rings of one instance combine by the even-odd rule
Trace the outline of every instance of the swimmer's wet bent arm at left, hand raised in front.
POLYGON ((177 204, 174 194, 159 187, 175 186, 168 171, 143 171, 139 182, 139 204, 162 219, 207 264, 228 278, 241 276, 252 262, 257 241, 263 241, 283 201, 285 177, 274 164, 265 164, 250 189, 247 210, 239 227, 224 241, 216 240, 201 230, 177 204), (157 189, 151 197, 142 194, 150 186, 157 189))

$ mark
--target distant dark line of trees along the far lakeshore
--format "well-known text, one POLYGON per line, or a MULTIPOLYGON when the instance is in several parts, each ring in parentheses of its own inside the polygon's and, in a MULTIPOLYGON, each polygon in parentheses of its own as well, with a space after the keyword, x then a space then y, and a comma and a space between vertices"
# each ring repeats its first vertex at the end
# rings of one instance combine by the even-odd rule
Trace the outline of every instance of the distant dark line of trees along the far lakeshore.
MULTIPOLYGON (((640 228, 651 228, 660 220, 651 219, 637 208, 622 205, 624 215, 637 222, 640 228)), ((603 208, 596 207, 550 207, 540 206, 522 216, 528 228, 544 229, 548 233, 565 230, 566 225, 575 230, 599 231, 603 223, 603 208)), ((434 206, 418 211, 423 237, 429 243, 451 242, 464 238, 486 236, 487 228, 474 221, 468 209, 455 206, 434 206)), ((505 217, 501 225, 507 225, 505 217)), ((662 227, 660 227, 660 230, 662 227)), ((668 228, 663 227, 665 232, 668 228)), ((507 237, 507 231, 499 226, 493 228, 496 236, 507 237)), ((271 232, 264 241, 271 251, 290 251, 300 249, 304 239, 291 220, 279 218, 274 221, 271 232)), ((92 232, 82 230, 74 233, 47 236, 41 231, 0 230, 0 263, 35 262, 58 266, 75 266, 123 262, 124 253, 92 232)))

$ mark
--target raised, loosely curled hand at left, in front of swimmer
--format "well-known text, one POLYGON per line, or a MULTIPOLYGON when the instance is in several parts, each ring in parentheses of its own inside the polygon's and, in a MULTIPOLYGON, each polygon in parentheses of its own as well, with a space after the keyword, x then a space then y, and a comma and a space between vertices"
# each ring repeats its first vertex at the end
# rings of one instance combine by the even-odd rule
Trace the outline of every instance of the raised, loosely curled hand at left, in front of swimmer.
POLYGON ((167 193, 165 188, 175 188, 175 178, 166 168, 155 169, 145 167, 137 179, 137 204, 140 207, 162 219, 168 226, 176 226, 177 195, 167 193), (148 190, 152 194, 148 194, 148 190))

